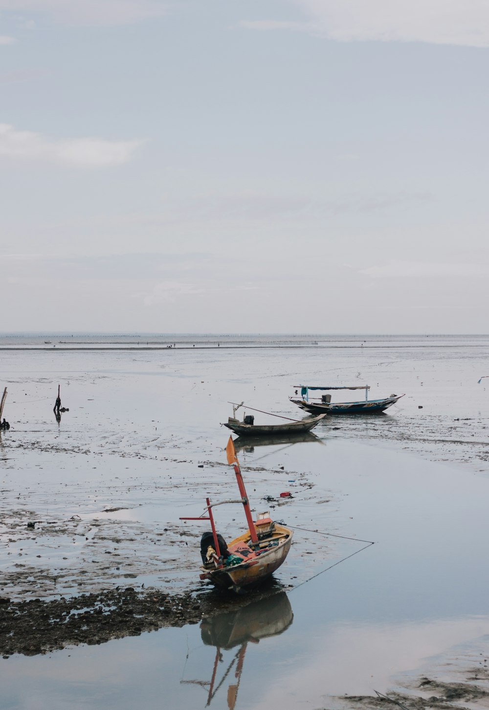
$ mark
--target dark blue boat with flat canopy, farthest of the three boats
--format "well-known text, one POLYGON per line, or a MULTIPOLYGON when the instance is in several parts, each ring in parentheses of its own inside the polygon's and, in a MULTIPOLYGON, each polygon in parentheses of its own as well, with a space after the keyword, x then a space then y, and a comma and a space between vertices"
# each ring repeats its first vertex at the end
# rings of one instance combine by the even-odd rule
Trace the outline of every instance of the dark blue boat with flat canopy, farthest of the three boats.
POLYGON ((404 395, 390 395, 384 399, 369 400, 369 385, 352 387, 316 387, 310 385, 296 385, 296 392, 300 389, 301 399, 290 397, 291 402, 310 414, 375 414, 386 410, 395 404, 404 395), (332 402, 331 395, 322 395, 321 398, 309 398, 311 390, 322 392, 332 390, 365 390, 365 399, 356 402, 332 402))

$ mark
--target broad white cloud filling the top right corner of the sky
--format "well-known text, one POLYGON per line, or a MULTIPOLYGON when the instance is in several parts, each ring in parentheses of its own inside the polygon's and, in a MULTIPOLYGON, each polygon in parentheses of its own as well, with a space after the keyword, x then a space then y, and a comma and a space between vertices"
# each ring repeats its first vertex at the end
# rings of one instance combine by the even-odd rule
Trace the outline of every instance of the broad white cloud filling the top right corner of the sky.
POLYGON ((242 21, 255 30, 296 30, 338 42, 426 42, 489 46, 489 3, 481 0, 293 0, 307 19, 242 21))

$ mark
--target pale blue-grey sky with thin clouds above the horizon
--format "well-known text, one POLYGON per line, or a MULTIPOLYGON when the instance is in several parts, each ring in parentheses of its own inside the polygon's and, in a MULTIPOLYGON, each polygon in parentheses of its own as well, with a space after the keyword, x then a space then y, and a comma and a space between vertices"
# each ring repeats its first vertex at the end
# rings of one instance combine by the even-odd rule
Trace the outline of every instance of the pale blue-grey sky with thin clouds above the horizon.
POLYGON ((489 0, 0 0, 0 332, 487 333, 489 0))

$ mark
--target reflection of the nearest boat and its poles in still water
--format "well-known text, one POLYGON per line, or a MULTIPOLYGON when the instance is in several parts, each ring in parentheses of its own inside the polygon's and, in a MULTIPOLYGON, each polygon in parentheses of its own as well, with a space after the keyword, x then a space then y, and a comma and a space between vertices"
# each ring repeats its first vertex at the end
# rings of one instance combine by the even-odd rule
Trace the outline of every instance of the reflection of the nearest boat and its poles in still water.
POLYGON ((284 591, 268 599, 254 601, 238 611, 219 614, 213 618, 204 618, 201 622, 201 638, 206 646, 215 646, 215 660, 209 682, 182 680, 181 683, 198 684, 208 687, 206 707, 228 679, 234 667, 234 674, 228 679, 227 707, 234 710, 240 679, 245 663, 248 643, 259 643, 262 638, 283 633, 293 621, 293 613, 288 596, 284 591), (225 655, 223 651, 239 646, 234 655, 225 655), (219 664, 225 663, 224 671, 219 664))

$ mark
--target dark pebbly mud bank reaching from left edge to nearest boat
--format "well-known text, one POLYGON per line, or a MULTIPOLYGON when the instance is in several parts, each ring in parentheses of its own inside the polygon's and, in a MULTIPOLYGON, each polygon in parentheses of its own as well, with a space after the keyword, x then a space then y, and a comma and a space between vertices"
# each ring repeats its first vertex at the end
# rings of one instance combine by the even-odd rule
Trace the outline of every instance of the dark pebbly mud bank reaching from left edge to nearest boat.
POLYGON ((195 594, 165 594, 132 586, 71 599, 11 601, 0 597, 0 655, 37 655, 67 646, 106 643, 168 626, 198 623, 223 611, 235 611, 281 591, 271 582, 246 600, 203 589, 195 594))

